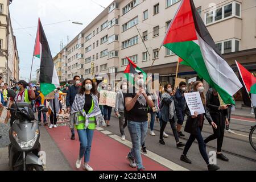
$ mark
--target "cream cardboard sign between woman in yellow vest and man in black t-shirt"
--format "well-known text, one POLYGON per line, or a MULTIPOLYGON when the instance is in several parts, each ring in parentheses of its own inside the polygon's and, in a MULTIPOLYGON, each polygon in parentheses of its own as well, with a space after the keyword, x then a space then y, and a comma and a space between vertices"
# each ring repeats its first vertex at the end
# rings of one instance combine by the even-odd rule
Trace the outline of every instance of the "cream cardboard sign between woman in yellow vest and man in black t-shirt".
POLYGON ((110 107, 115 107, 115 97, 117 93, 108 91, 108 90, 101 90, 100 92, 100 102, 99 105, 107 105, 110 107))

